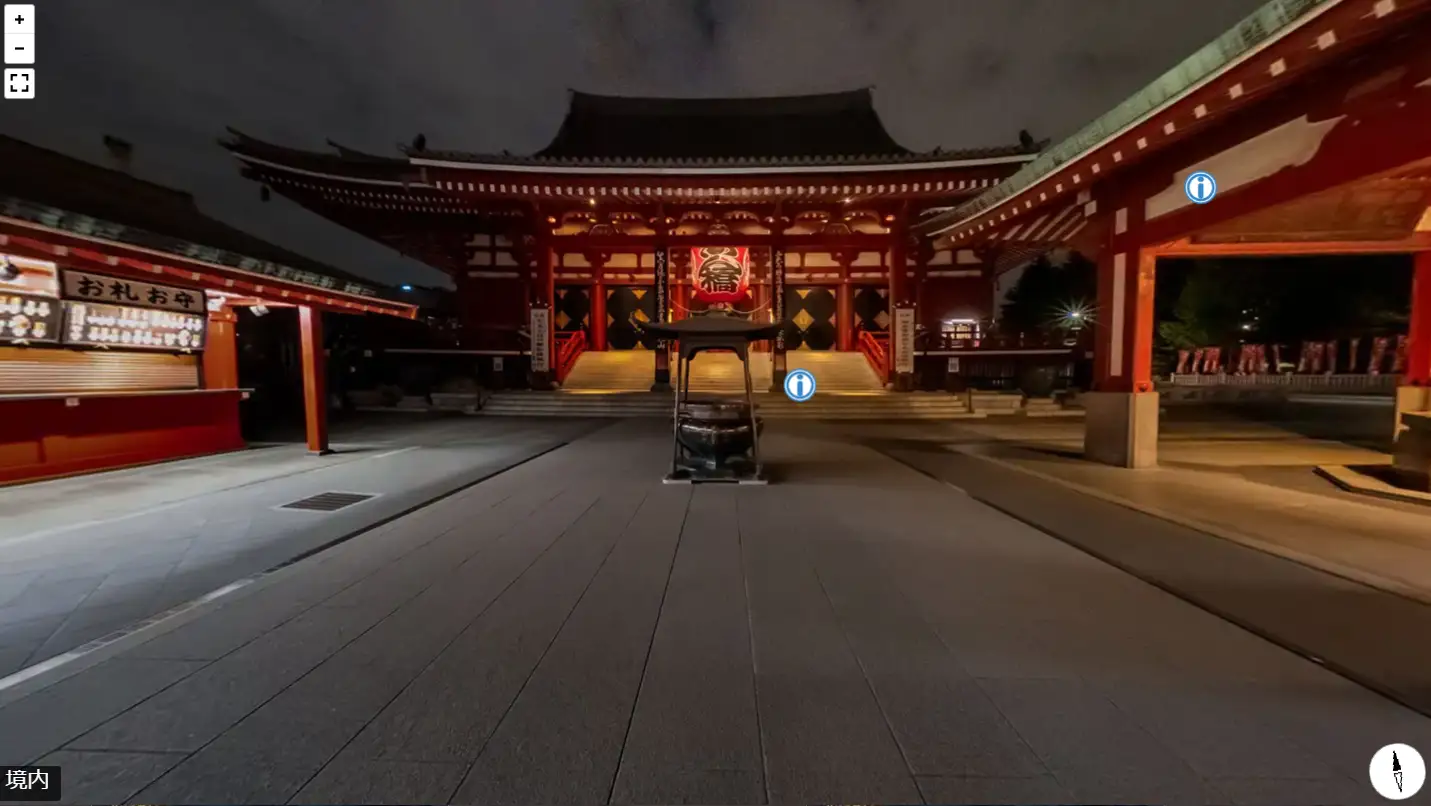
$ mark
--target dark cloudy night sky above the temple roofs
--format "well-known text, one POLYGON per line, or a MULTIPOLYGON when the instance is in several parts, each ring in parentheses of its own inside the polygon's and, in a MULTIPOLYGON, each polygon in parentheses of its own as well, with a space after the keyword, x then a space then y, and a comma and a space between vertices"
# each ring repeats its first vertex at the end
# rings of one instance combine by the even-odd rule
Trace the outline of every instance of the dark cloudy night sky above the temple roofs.
POLYGON ((1063 137, 1261 0, 41 0, 37 99, 0 130, 192 190, 209 213, 378 281, 432 282, 238 176, 225 126, 301 147, 514 153, 568 87, 750 96, 873 84, 912 149, 1063 137))

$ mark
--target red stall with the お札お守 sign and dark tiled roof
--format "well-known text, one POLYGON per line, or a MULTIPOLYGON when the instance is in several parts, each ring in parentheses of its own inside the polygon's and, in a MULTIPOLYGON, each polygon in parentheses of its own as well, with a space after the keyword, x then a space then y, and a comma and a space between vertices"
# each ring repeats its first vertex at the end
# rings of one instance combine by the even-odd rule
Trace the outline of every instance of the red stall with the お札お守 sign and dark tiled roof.
POLYGON ((416 314, 187 193, 0 137, 0 484, 242 448, 245 306, 298 309, 313 452, 322 314, 416 314))

